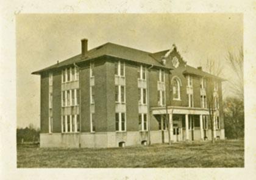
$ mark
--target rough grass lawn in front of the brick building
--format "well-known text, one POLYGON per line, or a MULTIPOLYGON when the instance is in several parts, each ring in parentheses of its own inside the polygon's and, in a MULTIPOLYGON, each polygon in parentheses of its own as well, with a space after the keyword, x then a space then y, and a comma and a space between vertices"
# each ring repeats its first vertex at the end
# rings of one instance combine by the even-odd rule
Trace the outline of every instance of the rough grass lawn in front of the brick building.
POLYGON ((150 147, 17 147, 17 167, 244 167, 244 141, 179 142, 150 147))

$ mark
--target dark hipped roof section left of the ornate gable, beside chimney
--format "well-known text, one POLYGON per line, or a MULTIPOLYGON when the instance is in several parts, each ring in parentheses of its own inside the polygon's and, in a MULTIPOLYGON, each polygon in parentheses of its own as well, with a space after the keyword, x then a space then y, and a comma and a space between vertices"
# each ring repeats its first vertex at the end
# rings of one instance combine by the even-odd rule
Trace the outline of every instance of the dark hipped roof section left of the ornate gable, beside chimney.
POLYGON ((40 74, 41 72, 48 71, 50 69, 68 66, 73 63, 80 63, 82 61, 91 60, 93 58, 102 57, 104 55, 107 55, 109 57, 135 61, 137 63, 144 63, 150 65, 152 64, 154 66, 171 69, 169 67, 163 66, 160 62, 151 57, 150 52, 133 49, 131 47, 121 46, 119 44, 105 43, 101 46, 95 47, 94 49, 88 50, 86 57, 83 57, 82 54, 79 54, 74 57, 68 58, 67 60, 61 61, 60 63, 46 67, 39 71, 32 72, 32 74, 40 74))

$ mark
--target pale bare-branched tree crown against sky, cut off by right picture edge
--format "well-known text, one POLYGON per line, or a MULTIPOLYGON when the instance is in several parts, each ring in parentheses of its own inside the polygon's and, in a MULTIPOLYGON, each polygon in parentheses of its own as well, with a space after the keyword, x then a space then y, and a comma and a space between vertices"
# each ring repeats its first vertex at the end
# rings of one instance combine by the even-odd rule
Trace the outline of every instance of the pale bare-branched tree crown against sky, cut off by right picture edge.
POLYGON ((232 71, 232 78, 229 80, 230 91, 241 100, 244 99, 244 54, 241 47, 238 54, 228 52, 226 61, 232 71))

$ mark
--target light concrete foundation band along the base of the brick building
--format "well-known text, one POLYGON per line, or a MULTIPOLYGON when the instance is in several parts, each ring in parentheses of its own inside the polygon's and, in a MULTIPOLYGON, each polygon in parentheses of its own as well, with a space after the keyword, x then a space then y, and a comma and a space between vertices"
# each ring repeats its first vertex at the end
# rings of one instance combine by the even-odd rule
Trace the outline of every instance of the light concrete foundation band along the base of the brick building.
MULTIPOLYGON (((190 140, 191 140, 191 131, 190 140)), ((217 130, 216 136, 225 139, 224 130, 217 130)), ((211 140, 211 130, 207 130, 208 140, 211 140)), ((185 132, 180 134, 177 140, 171 134, 172 142, 185 140, 185 132)), ((194 130, 194 140, 201 140, 200 131, 194 130)), ((168 142, 168 131, 151 131, 151 144, 168 142)), ((128 131, 128 132, 102 132, 102 133, 41 133, 40 147, 65 147, 65 148, 110 148, 124 146, 148 144, 148 132, 128 131)))

